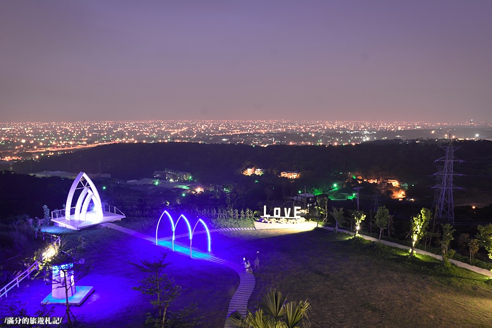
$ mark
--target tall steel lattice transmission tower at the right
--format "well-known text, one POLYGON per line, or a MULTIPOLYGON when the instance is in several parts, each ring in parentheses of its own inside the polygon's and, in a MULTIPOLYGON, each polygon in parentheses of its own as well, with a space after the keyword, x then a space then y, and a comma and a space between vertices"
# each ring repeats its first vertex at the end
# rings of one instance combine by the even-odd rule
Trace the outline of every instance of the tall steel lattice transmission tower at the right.
POLYGON ((453 176, 461 175, 453 171, 454 162, 462 163, 463 161, 454 157, 454 152, 460 147, 443 146, 441 147, 446 151, 446 155, 435 160, 435 162, 444 162, 442 170, 434 173, 437 178, 436 185, 433 187, 436 189, 437 201, 434 199, 435 204, 435 219, 436 221, 447 221, 452 225, 455 224, 455 210, 453 201, 453 189, 461 189, 453 186, 453 176))

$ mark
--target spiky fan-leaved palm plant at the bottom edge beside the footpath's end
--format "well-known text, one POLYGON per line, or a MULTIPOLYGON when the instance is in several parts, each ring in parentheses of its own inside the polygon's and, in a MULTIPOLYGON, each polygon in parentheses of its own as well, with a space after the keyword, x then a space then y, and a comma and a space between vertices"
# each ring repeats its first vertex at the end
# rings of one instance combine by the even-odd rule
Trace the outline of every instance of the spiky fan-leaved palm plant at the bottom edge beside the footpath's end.
POLYGON ((271 290, 263 296, 260 308, 248 313, 245 318, 231 315, 230 321, 241 328, 295 328, 310 327, 310 304, 307 300, 289 301, 280 291, 271 290))

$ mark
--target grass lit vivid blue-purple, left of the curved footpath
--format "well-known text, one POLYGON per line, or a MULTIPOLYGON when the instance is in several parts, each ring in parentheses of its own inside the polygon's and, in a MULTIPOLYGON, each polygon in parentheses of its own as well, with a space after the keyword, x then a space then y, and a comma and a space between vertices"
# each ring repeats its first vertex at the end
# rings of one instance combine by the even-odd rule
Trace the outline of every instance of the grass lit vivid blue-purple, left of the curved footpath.
MULTIPOLYGON (((169 249, 109 228, 94 227, 72 233, 85 238, 86 261, 93 262, 93 270, 77 285, 93 286, 95 292, 82 306, 72 306, 72 312, 81 327, 144 327, 145 313, 152 311, 149 296, 131 288, 138 285, 142 275, 128 263, 158 258, 169 252, 166 272, 182 287, 182 296, 174 303, 178 309, 197 303, 198 312, 205 316, 203 327, 223 327, 229 299, 234 294, 239 277, 222 265, 202 260, 191 260, 169 249)), ((21 288, 2 298, 0 316, 5 313, 3 303, 21 300, 27 303, 28 313, 33 315, 41 300, 51 292, 51 286, 36 279, 23 281, 21 288)), ((56 306, 56 315, 63 315, 64 307, 56 306)))

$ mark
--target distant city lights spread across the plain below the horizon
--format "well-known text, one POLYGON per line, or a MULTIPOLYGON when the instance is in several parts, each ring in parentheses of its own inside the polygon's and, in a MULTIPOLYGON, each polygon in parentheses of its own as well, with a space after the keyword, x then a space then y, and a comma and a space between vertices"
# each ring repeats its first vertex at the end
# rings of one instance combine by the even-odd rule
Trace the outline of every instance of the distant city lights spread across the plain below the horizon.
POLYGON ((0 123, 0 160, 39 159, 108 143, 348 145, 391 139, 492 139, 489 123, 364 121, 103 121, 0 123))

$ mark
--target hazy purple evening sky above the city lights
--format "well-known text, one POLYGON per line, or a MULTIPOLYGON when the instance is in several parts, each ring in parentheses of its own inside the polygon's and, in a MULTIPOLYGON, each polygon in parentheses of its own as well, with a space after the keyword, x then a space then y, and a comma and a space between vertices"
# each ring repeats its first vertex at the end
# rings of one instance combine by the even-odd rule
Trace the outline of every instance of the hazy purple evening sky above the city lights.
POLYGON ((492 121, 492 1, 0 1, 0 121, 492 121))

